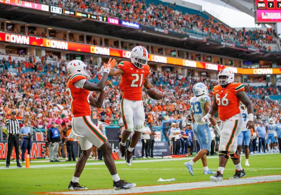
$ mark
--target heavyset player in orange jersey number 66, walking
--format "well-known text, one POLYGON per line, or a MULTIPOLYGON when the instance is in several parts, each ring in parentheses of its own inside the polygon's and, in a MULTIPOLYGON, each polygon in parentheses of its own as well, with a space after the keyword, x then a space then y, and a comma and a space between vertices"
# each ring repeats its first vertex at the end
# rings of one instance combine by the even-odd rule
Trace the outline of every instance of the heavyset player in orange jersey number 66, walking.
POLYGON ((229 179, 238 179, 246 175, 240 163, 240 154, 237 151, 238 135, 243 128, 243 117, 239 109, 240 101, 247 107, 249 121, 247 129, 254 126, 253 122, 253 105, 248 95, 245 93, 242 83, 232 83, 234 81, 234 73, 230 68, 220 70, 218 83, 213 88, 214 102, 209 112, 202 118, 202 123, 214 116, 217 111, 222 120, 219 145, 219 168, 214 176, 210 179, 213 181, 221 181, 225 165, 230 156, 235 165, 235 174, 229 179))

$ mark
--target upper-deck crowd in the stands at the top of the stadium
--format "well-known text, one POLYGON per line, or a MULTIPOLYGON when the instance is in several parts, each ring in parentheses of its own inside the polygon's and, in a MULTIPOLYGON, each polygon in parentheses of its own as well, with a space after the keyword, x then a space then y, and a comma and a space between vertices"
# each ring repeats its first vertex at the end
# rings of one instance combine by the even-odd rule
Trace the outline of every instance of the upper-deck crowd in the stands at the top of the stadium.
MULTIPOLYGON (((31 0, 32 1, 32 0, 31 0)), ((209 39, 235 43, 240 46, 270 51, 269 43, 277 43, 274 29, 236 31, 213 17, 203 17, 201 14, 183 13, 172 4, 146 4, 136 0, 98 0, 98 1, 62 1, 42 0, 44 4, 59 6, 79 12, 119 18, 130 22, 137 22, 144 26, 160 27, 169 31, 188 34, 200 34, 209 39)))

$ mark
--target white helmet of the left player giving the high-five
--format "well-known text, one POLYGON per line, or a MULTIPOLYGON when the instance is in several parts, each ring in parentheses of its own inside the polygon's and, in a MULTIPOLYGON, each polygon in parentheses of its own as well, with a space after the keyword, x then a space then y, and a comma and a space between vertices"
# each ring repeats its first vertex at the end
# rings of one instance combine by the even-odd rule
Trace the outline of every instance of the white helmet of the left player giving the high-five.
POLYGON ((90 70, 86 69, 87 65, 81 60, 72 60, 66 66, 67 74, 73 76, 74 74, 83 74, 90 79, 90 70))

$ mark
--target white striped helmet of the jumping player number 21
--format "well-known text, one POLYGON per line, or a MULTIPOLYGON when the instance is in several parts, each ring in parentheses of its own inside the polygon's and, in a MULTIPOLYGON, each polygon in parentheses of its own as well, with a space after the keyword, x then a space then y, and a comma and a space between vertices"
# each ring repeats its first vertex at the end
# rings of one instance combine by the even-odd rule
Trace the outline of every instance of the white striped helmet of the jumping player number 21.
POLYGON ((137 68, 142 68, 148 62, 148 51, 143 46, 136 46, 131 51, 131 62, 137 68))

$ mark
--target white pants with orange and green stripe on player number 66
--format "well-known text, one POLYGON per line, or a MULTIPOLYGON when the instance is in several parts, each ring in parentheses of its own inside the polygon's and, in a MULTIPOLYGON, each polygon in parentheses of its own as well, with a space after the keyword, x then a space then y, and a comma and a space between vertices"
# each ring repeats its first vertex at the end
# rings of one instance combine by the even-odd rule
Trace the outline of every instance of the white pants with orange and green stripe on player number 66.
POLYGON ((220 151, 229 151, 229 154, 236 152, 238 136, 243 129, 243 125, 244 120, 241 113, 236 114, 221 123, 220 151))

